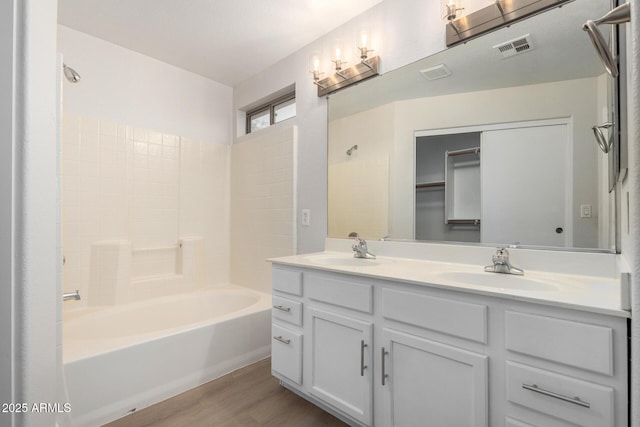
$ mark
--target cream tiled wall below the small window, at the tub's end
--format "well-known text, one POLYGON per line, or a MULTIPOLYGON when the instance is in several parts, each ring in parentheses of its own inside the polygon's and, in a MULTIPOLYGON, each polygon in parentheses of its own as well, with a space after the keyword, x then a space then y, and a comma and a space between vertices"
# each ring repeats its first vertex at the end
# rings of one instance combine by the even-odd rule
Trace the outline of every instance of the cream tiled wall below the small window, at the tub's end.
POLYGON ((296 253, 297 128, 269 129, 231 148, 231 281, 271 293, 267 258, 296 253))

